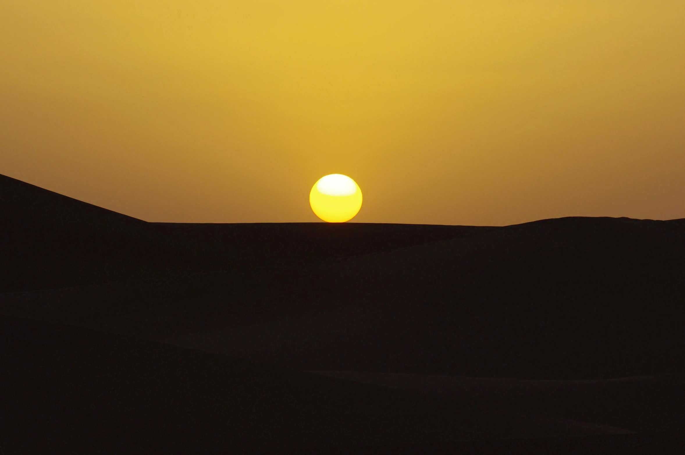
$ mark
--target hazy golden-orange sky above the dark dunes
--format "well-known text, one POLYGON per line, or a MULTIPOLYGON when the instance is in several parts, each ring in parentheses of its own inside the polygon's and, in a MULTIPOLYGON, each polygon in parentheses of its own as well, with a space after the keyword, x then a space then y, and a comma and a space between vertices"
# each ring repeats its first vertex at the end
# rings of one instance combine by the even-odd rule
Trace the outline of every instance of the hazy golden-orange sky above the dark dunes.
POLYGON ((685 218, 685 1, 4 0, 0 173, 147 221, 685 218))

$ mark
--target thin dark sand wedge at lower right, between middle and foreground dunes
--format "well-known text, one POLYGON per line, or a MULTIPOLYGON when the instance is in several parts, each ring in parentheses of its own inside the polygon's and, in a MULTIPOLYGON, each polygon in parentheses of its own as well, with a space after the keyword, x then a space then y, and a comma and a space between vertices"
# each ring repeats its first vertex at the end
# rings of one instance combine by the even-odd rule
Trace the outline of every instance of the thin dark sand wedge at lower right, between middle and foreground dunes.
POLYGON ((395 373, 321 371, 321 374, 395 389, 419 391, 477 404, 634 432, 685 428, 685 375, 608 380, 516 380, 395 373))

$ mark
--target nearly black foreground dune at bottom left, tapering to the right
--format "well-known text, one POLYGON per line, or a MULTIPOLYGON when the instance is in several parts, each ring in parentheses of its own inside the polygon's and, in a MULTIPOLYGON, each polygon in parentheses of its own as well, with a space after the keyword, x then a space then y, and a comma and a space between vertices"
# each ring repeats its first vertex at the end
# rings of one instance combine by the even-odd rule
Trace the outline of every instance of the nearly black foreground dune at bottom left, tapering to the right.
POLYGON ((0 317, 0 334, 5 453, 235 453, 622 432, 66 325, 0 317))

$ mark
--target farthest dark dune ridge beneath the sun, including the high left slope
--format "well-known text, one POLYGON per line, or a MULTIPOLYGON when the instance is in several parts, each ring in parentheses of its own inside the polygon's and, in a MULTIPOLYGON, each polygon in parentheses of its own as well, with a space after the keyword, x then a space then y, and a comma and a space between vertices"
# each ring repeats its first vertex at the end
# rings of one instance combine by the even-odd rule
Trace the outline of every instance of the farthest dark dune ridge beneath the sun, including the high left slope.
POLYGON ((0 175, 0 292, 35 291, 389 251, 487 227, 147 223, 0 175))

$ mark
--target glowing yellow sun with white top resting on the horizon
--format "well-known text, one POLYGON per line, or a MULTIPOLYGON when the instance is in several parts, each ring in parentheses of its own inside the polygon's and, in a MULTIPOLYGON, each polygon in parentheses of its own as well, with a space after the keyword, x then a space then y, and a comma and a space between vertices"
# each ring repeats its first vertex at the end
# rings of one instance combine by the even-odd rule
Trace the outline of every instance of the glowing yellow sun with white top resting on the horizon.
POLYGON ((362 208, 362 190, 347 175, 326 175, 312 186, 309 205, 323 221, 345 223, 362 208))

